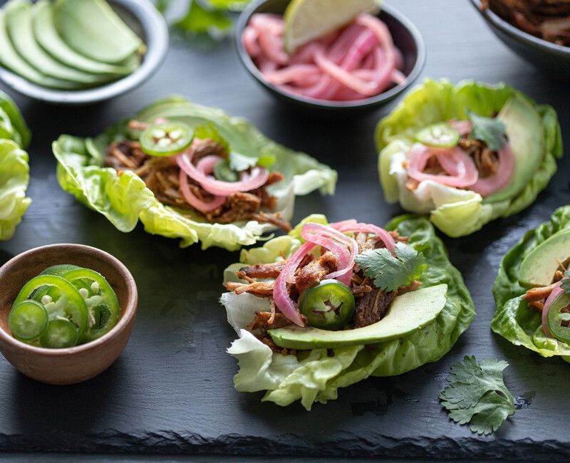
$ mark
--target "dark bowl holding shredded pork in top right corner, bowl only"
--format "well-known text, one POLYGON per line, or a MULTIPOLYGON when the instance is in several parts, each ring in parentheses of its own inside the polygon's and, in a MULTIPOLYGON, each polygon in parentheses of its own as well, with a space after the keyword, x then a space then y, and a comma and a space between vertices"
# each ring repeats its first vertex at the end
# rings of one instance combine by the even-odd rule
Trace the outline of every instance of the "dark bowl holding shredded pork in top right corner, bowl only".
POLYGON ((504 21, 493 11, 482 11, 481 0, 471 0, 487 25, 505 45, 529 63, 556 74, 570 73, 570 47, 535 37, 504 21))

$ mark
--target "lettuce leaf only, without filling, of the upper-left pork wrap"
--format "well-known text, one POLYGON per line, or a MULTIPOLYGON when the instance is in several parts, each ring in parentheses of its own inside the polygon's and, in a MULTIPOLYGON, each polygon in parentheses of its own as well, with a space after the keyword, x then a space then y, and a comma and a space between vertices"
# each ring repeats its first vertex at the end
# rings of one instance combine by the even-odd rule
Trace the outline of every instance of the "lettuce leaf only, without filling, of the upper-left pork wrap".
MULTIPOLYGON (((286 220, 293 215, 297 194, 308 194, 315 189, 323 194, 334 192, 337 178, 334 170, 309 155, 278 145, 246 120, 232 118, 222 110, 171 97, 148 106, 134 118, 142 122, 166 118, 192 128, 213 129, 232 150, 254 157, 274 157, 271 170, 281 172, 285 180, 268 190, 277 199, 276 211, 286 220)), ((181 246, 201 241, 202 249, 219 246, 233 251, 255 244, 271 230, 271 225, 255 221, 212 224, 199 214, 185 210, 183 215, 180 209, 159 202, 138 175, 125 171, 118 176, 114 169, 103 167, 108 145, 125 140, 129 134, 128 121, 123 121, 95 138, 61 135, 53 142, 61 187, 103 214, 120 231, 133 230, 140 220, 149 233, 182 239, 181 246)))

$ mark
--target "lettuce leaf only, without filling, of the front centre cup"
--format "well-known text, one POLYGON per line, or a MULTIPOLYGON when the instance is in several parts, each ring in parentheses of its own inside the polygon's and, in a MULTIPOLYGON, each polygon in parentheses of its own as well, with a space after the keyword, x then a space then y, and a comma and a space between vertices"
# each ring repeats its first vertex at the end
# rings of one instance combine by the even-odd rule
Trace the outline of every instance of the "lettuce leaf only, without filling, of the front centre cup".
MULTIPOLYGON (((300 230, 306 222, 326 224, 326 217, 304 219, 288 236, 267 241, 264 246, 242 250, 241 262, 229 266, 224 281, 236 281, 236 271, 244 264, 267 264, 291 256, 301 246, 300 230)), ((237 296, 224 293, 221 303, 227 319, 239 338, 227 350, 239 362, 234 385, 240 392, 264 390, 263 400, 289 405, 301 400, 310 410, 314 402, 334 400, 339 387, 358 383, 368 376, 393 376, 439 360, 447 353, 473 318, 475 308, 462 276, 447 259, 447 251, 430 222, 423 217, 402 216, 393 219, 388 230, 409 236, 408 244, 425 256, 427 269, 422 287, 447 284, 447 302, 434 321, 418 331, 395 340, 367 345, 351 345, 332 350, 298 350, 296 355, 281 355, 261 343, 247 325, 257 311, 269 311, 269 302, 248 293, 237 296)))

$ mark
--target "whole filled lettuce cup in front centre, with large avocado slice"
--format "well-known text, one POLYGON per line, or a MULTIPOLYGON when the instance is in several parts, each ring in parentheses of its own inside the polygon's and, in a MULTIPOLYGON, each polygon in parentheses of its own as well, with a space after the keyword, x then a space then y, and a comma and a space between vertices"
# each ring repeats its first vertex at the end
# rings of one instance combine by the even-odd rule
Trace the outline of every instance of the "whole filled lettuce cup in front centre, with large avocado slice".
POLYGON ((286 236, 244 249, 221 298, 237 332, 234 386, 310 410, 339 387, 400 375, 447 353, 475 308, 430 222, 385 229, 312 215, 286 236))

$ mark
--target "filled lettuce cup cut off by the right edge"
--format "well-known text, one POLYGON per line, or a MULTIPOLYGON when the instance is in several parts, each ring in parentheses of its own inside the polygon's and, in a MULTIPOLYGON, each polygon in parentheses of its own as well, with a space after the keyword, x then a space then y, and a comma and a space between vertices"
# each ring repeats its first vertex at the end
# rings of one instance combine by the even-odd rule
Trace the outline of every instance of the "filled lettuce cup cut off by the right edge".
POLYGON ((543 357, 570 361, 570 206, 504 256, 494 282, 492 330, 543 357))

